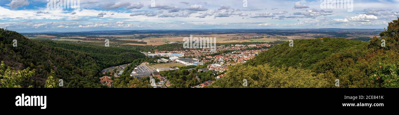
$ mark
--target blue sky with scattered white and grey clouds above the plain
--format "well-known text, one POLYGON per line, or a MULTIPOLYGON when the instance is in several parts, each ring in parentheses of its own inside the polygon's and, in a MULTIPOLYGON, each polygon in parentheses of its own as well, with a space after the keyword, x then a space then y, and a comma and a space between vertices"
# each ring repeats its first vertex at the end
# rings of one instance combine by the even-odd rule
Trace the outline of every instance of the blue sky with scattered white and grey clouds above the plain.
POLYGON ((244 1, 80 0, 79 9, 57 9, 47 7, 47 0, 0 0, 0 28, 18 32, 383 29, 399 17, 399 0, 354 0, 352 12, 349 8, 324 7, 321 4, 326 1, 322 0, 246 0, 246 4, 244 1))

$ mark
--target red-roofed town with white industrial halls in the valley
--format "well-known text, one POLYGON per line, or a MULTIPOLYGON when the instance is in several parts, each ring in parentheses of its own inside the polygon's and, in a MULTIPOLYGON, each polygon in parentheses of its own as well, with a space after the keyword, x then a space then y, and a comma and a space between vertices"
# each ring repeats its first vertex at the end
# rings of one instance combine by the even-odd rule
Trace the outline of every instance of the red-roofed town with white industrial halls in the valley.
MULTIPOLYGON (((231 44, 228 46, 217 46, 216 51, 210 49, 188 49, 188 50, 176 50, 176 51, 156 51, 156 52, 141 52, 147 57, 158 57, 157 63, 143 62, 137 65, 133 71, 130 72, 130 77, 136 77, 142 79, 144 77, 150 77, 150 84, 154 88, 167 88, 171 86, 171 83, 167 77, 162 77, 160 72, 162 71, 175 71, 180 70, 179 67, 188 66, 201 66, 205 68, 198 69, 198 72, 211 71, 215 74, 215 79, 223 78, 225 72, 228 70, 229 65, 236 65, 245 63, 247 60, 255 58, 260 52, 266 51, 272 45, 268 43, 263 44, 231 44)), ((116 67, 110 67, 101 71, 103 74, 113 77, 119 77, 123 73, 126 65, 120 65, 116 67)), ((195 68, 188 69, 189 71, 195 68)), ((103 85, 112 87, 112 77, 103 76, 100 78, 100 82, 103 85)), ((198 81, 198 73, 197 73, 198 81)), ((192 86, 192 88, 203 88, 212 84, 215 81, 203 81, 201 84, 192 86)))

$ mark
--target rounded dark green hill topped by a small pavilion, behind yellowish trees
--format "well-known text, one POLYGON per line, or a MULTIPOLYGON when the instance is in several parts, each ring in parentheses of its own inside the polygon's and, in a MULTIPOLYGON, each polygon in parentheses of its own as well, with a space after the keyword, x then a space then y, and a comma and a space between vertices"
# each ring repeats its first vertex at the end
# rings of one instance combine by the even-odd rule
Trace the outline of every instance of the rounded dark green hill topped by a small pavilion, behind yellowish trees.
POLYGON ((308 68, 314 63, 331 56, 331 54, 364 46, 366 43, 361 41, 348 40, 344 38, 323 38, 319 39, 294 40, 294 46, 289 47, 289 42, 279 44, 270 48, 267 52, 262 52, 246 65, 263 65, 269 63, 271 66, 286 66, 308 68))

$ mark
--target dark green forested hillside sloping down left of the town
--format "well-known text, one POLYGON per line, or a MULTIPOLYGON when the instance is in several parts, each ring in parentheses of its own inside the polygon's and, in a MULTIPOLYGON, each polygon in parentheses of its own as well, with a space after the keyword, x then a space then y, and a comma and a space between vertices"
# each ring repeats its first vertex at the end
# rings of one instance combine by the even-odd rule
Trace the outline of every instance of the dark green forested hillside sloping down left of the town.
POLYGON ((0 29, 0 60, 12 70, 36 70, 33 77, 23 79, 21 87, 44 87, 51 70, 56 79, 63 79, 64 87, 102 87, 98 79, 101 69, 144 57, 123 48, 29 40, 14 31, 0 29), (14 39, 18 41, 17 47, 13 47, 14 39))

